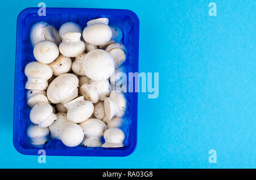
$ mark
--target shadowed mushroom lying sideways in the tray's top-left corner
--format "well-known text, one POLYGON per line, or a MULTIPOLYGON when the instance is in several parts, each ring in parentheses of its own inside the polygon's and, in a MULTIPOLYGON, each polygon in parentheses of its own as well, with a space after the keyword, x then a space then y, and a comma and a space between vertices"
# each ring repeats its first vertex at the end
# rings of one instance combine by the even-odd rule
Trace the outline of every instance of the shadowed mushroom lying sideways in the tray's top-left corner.
POLYGON ((31 44, 35 46, 40 41, 52 41, 56 45, 60 44, 59 33, 55 27, 46 22, 35 23, 30 31, 31 44))

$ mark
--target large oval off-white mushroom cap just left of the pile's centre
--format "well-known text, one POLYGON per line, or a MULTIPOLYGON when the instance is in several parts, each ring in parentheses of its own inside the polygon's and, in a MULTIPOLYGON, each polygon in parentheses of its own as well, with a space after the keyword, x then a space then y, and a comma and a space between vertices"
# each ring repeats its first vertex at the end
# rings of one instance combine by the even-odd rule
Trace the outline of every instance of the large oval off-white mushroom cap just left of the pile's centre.
POLYGON ((47 88, 47 97, 53 104, 64 104, 78 96, 79 79, 73 74, 61 74, 47 88))

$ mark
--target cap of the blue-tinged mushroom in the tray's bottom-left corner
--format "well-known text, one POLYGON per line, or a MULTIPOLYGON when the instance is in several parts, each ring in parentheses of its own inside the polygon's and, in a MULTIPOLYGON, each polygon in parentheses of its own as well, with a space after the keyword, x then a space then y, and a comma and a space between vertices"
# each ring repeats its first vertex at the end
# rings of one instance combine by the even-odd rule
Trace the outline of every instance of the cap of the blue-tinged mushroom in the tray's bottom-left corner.
POLYGON ((38 125, 30 125, 27 128, 27 136, 31 140, 41 140, 49 134, 48 127, 39 127, 38 125))

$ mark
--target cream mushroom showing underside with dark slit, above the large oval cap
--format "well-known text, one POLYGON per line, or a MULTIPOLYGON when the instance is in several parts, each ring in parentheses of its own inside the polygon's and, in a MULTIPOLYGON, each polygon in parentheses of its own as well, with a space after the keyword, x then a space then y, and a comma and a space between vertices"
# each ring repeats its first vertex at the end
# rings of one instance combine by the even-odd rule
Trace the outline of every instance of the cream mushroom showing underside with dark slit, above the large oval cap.
POLYGON ((65 57, 60 54, 53 62, 49 63, 52 68, 53 75, 59 76, 61 74, 67 73, 72 65, 71 58, 65 57))

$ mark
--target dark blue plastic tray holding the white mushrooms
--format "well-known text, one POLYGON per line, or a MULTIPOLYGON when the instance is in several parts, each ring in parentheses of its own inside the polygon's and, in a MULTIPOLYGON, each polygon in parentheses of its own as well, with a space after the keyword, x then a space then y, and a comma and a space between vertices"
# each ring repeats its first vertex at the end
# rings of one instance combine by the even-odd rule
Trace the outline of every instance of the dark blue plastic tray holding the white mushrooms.
MULTIPOLYGON (((54 156, 128 156, 137 145, 137 111, 138 93, 126 93, 128 111, 125 123, 121 127, 126 134, 125 147, 122 148, 90 148, 78 146, 66 147, 59 140, 51 140, 44 145, 31 145, 26 135, 26 129, 31 124, 27 105, 27 81, 24 67, 28 62, 35 61, 29 33, 32 25, 39 21, 47 22, 57 29, 60 25, 73 21, 86 27, 86 23, 95 18, 109 18, 109 25, 116 25, 123 32, 122 43, 127 48, 125 66, 127 72, 138 72, 139 49, 139 19, 130 10, 98 9, 98 8, 46 8, 46 16, 38 16, 39 8, 26 8, 20 12, 17 20, 15 90, 14 90, 14 132, 13 143, 16 150, 25 155, 38 155, 39 149, 44 149, 46 155, 54 156)), ((102 141, 104 139, 102 138, 102 141)))

